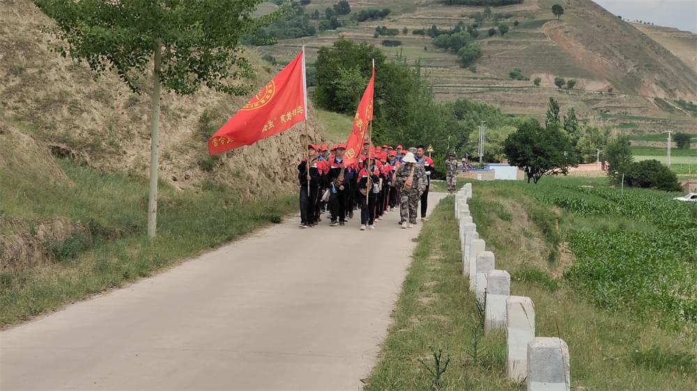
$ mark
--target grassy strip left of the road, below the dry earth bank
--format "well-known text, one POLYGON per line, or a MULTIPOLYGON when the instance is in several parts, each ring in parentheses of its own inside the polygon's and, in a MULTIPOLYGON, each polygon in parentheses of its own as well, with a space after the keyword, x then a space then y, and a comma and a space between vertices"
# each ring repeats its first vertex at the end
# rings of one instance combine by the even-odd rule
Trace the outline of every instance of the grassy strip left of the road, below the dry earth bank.
POLYGON ((61 168, 74 184, 49 185, 25 175, 0 173, 0 223, 33 225, 66 218, 87 228, 50 244, 49 262, 0 272, 0 326, 151 276, 263 225, 278 223, 296 207, 295 197, 284 194, 243 202, 220 184, 176 191, 161 183, 158 237, 150 243, 144 237, 146 180, 101 173, 70 161, 61 161, 61 168))

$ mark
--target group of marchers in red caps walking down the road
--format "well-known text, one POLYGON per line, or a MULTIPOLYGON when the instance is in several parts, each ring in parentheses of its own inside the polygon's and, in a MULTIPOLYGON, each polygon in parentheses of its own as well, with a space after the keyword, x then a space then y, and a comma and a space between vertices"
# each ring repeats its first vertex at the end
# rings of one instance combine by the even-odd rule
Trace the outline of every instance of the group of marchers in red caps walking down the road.
POLYGON ((300 228, 314 227, 327 210, 331 227, 345 225, 360 208, 360 230, 374 230, 376 221, 396 207, 401 227, 413 228, 419 202, 421 220, 426 219, 434 163, 424 156, 423 146, 405 150, 365 142, 358 159, 348 164, 346 145, 307 148, 307 157, 298 164, 300 228))

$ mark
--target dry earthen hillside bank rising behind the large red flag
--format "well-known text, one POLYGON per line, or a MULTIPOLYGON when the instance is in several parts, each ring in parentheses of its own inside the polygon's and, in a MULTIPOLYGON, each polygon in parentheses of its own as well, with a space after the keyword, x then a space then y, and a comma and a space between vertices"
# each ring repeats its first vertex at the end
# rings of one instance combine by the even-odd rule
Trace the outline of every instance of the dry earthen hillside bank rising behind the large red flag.
MULTIPOLYGON (((115 74, 96 77, 86 65, 51 51, 45 26, 52 26, 51 20, 31 1, 0 2, 0 124, 13 129, 0 135, 3 148, 8 138, 18 138, 40 145, 37 154, 50 150, 100 170, 147 177, 149 97, 130 93, 115 74)), ((258 90, 276 69, 254 50, 247 56, 256 71, 252 89, 258 90)), ((221 159, 208 157, 208 136, 246 100, 207 89, 191 97, 165 94, 160 177, 178 189, 212 180, 243 197, 294 184, 294 162, 306 143, 302 125, 221 159)), ((321 141, 320 125, 311 122, 310 129, 311 138, 321 141)), ((15 158, 24 159, 22 153, 15 158)), ((54 164, 45 153, 33 160, 39 159, 54 164)))

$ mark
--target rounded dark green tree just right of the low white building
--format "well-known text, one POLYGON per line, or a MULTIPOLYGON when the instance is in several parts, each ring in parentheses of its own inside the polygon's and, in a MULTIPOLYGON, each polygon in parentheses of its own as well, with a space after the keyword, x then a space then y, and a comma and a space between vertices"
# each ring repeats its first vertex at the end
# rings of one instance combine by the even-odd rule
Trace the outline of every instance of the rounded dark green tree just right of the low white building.
POLYGON ((519 167, 535 184, 544 175, 567 175, 569 166, 576 166, 567 135, 558 127, 542 128, 539 123, 525 122, 508 136, 504 145, 508 162, 519 167))

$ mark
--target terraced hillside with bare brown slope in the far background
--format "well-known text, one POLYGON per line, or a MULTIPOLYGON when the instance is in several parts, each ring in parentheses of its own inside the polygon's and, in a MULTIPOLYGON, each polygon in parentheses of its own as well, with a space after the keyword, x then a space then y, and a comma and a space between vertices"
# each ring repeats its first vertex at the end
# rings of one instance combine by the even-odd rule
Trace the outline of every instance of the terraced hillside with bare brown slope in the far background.
MULTIPOLYGON (((413 30, 433 24, 438 29, 452 29, 459 22, 469 25, 483 7, 447 6, 436 1, 394 0, 379 2, 379 6, 376 2, 349 2, 353 12, 388 7, 392 13, 382 21, 348 20, 336 31, 304 38, 311 54, 309 62, 321 45, 331 45, 343 36, 372 43, 393 58, 420 61, 441 100, 464 97, 500 106, 506 113, 542 118, 549 97, 555 97, 562 107, 575 106, 584 118, 636 133, 694 132, 697 125, 697 113, 680 102, 697 101, 696 70, 680 59, 689 56, 684 48, 687 44, 681 44, 680 50, 675 49, 677 43, 666 44, 671 47, 666 49, 590 0, 561 2, 566 10, 560 21, 551 13, 551 6, 558 2, 553 0, 526 0, 492 8, 499 21, 480 26, 477 42, 483 55, 470 69, 459 67, 457 56, 435 47, 428 36, 414 35, 413 30), (518 26, 514 26, 516 21, 518 26), (487 31, 498 23, 508 24, 510 33, 489 37, 487 31), (374 38, 377 26, 399 29, 400 33, 374 38), (401 31, 404 28, 406 35, 401 31), (399 40, 402 45, 381 46, 385 39, 399 40), (511 80, 508 74, 514 68, 520 68, 530 81, 511 80), (533 85, 536 77, 542 80, 539 87, 533 85), (574 79, 576 86, 558 90, 555 77, 574 79)), ((307 9, 323 10, 332 3, 335 1, 314 0, 307 9)), ((287 61, 300 45, 301 39, 282 40, 259 49, 287 61)))

